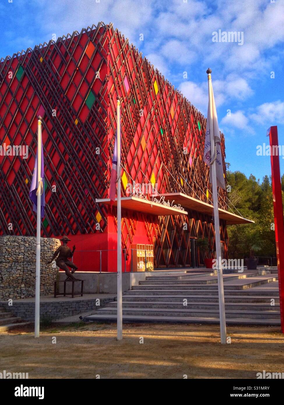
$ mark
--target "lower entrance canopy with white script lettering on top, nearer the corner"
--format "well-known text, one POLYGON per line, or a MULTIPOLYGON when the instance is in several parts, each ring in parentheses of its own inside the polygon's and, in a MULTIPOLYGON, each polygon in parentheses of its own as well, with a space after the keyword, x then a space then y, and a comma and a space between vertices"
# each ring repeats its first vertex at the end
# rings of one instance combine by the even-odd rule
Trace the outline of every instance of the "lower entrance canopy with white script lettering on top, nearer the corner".
MULTIPOLYGON (((103 203, 110 205, 110 198, 96 198, 96 203, 103 203)), ((117 198, 113 205, 117 206, 117 198)), ((139 211, 151 215, 187 215, 188 212, 182 209, 177 209, 170 205, 163 205, 154 203, 153 201, 144 200, 138 197, 122 197, 121 207, 124 209, 131 209, 132 211, 139 211)))

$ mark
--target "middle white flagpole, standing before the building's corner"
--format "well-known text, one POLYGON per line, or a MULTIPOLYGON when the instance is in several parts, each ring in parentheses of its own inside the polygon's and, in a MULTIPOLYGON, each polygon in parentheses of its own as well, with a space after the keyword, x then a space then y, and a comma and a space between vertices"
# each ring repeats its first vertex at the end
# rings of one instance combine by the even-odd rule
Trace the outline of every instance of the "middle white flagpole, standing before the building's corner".
POLYGON ((117 340, 122 340, 121 191, 120 191, 120 97, 117 96, 117 340))

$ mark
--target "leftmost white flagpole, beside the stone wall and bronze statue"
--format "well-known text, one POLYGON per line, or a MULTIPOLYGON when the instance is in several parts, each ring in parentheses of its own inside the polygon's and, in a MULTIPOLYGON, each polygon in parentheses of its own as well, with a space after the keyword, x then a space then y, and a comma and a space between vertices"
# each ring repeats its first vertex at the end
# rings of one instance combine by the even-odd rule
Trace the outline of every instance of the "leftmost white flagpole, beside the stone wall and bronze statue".
POLYGON ((36 201, 36 298, 34 309, 34 337, 39 337, 39 309, 41 294, 41 117, 38 117, 37 146, 37 201, 36 201))

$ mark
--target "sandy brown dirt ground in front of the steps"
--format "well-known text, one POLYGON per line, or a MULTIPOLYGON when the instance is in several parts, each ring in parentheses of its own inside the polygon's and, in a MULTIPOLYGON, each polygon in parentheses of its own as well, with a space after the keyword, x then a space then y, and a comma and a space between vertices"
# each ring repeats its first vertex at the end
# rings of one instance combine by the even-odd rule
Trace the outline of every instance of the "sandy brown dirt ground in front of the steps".
POLYGON ((0 334, 0 371, 29 378, 256 378, 284 372, 284 335, 277 327, 83 322, 0 334), (52 343, 56 337, 56 343, 52 343), (142 339, 143 338, 143 339, 142 339), (140 343, 142 342, 143 343, 140 343))

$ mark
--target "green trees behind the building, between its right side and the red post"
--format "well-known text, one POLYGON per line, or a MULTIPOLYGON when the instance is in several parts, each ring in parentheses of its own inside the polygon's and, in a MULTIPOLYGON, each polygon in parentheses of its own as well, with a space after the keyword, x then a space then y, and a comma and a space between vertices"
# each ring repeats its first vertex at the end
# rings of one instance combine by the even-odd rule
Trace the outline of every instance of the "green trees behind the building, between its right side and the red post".
MULTIPOLYGON (((240 171, 228 171, 227 179, 231 185, 228 198, 241 215, 255 222, 227 227, 229 258, 243 258, 253 252, 258 256, 276 256, 271 177, 266 175, 260 182, 253 175, 247 178, 240 171)), ((284 191, 284 176, 281 180, 284 191)))

